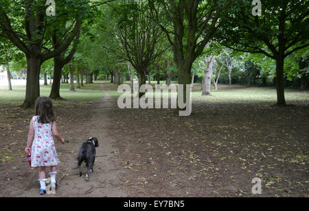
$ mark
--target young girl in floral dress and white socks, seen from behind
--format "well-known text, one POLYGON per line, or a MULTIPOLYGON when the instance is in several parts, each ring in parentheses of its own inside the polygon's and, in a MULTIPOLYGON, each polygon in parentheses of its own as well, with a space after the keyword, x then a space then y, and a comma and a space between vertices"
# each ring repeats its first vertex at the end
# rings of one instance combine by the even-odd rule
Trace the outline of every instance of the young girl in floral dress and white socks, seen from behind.
POLYGON ((39 167, 38 177, 40 181, 40 194, 46 193, 46 166, 50 166, 51 186, 56 188, 56 165, 59 164, 54 138, 62 144, 65 142, 57 131, 52 100, 48 97, 39 97, 36 100, 36 116, 30 121, 30 129, 25 151, 31 151, 31 166, 39 167))

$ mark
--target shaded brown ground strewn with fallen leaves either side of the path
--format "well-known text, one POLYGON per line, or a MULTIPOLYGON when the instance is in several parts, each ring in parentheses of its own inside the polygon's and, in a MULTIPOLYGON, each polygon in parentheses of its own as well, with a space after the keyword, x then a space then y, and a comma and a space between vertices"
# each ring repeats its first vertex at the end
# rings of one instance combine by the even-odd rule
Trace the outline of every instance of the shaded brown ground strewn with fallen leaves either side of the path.
MULTIPOLYGON (((107 132, 117 140, 115 165, 126 171, 122 182, 133 197, 309 196, 308 104, 194 102, 191 116, 181 117, 174 110, 120 110, 114 101, 107 132), (254 177, 262 179, 262 195, 251 193, 254 177)), ((93 103, 56 102, 62 136, 82 136, 87 128, 79 123, 89 121, 93 103)), ((29 168, 23 150, 33 113, 0 105, 0 196, 29 168)))

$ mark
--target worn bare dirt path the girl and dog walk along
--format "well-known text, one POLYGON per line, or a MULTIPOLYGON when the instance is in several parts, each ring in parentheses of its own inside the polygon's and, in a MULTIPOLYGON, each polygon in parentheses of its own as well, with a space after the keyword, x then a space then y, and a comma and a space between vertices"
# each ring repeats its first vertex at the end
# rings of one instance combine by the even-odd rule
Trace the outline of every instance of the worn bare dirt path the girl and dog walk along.
MULTIPOLYGON (((104 90, 103 85, 101 85, 104 90)), ((78 176, 76 154, 81 143, 67 143, 58 145, 58 152, 63 154, 62 163, 58 166, 58 180, 62 175, 66 175, 60 181, 56 195, 45 195, 45 197, 128 197, 124 186, 121 186, 120 175, 122 173, 117 166, 117 149, 113 148, 115 140, 106 134, 108 128, 108 117, 106 112, 114 108, 113 101, 109 97, 108 92, 104 90, 105 97, 95 103, 92 108, 92 116, 89 121, 83 123, 82 127, 78 127, 84 131, 84 137, 96 137, 100 142, 97 148, 97 156, 95 160, 94 173, 90 175, 89 182, 78 176), (67 160, 67 161, 66 161, 67 160)), ((77 138, 77 137, 76 137, 77 138)), ((78 139, 77 139, 78 140, 78 139)), ((86 167, 83 164, 83 173, 86 167)), ((49 170, 47 170, 49 172, 49 170)), ((20 197, 38 196, 38 182, 36 181, 36 172, 31 173, 32 179, 28 179, 27 191, 24 191, 20 197)))

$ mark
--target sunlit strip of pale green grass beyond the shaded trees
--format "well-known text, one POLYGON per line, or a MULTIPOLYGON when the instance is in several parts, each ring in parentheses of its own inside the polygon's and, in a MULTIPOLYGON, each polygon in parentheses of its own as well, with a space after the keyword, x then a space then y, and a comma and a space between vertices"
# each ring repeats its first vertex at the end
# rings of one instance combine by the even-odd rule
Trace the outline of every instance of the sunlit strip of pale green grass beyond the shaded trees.
MULTIPOLYGON (((130 82, 124 82, 130 84, 130 82)), ((174 82, 172 82, 174 84, 174 82)), ((76 92, 69 91, 69 84, 61 84, 60 95, 65 99, 100 99, 104 97, 104 92, 100 90, 100 84, 104 84, 107 92, 111 97, 118 98, 122 92, 117 92, 118 85, 111 84, 109 81, 97 81, 94 84, 84 84, 82 89, 76 89, 76 92)), ((152 86, 157 82, 153 81, 152 86)), ((162 81, 161 84, 164 84, 162 81)), ((41 96, 49 96, 51 85, 41 86, 41 96)), ((201 95, 201 84, 194 84, 192 89, 193 101, 257 101, 275 103, 277 101, 277 93, 274 87, 249 87, 225 84, 218 84, 218 90, 211 87, 211 94, 213 97, 205 97, 201 95)), ((176 95, 172 93, 172 95, 176 95)), ((309 92, 286 88, 285 97, 287 103, 309 103, 309 92)), ((8 91, 7 86, 0 86, 0 104, 19 105, 25 98, 25 86, 14 86, 13 90, 8 91)))

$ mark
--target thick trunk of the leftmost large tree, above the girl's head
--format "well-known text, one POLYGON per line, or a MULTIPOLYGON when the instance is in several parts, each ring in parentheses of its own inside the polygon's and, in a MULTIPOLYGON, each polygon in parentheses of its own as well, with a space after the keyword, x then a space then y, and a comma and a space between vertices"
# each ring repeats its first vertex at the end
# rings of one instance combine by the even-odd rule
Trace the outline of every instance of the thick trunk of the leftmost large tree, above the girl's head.
POLYGON ((27 85, 25 93, 25 101, 22 108, 33 107, 36 99, 40 97, 40 69, 41 59, 34 55, 27 56, 27 85))

